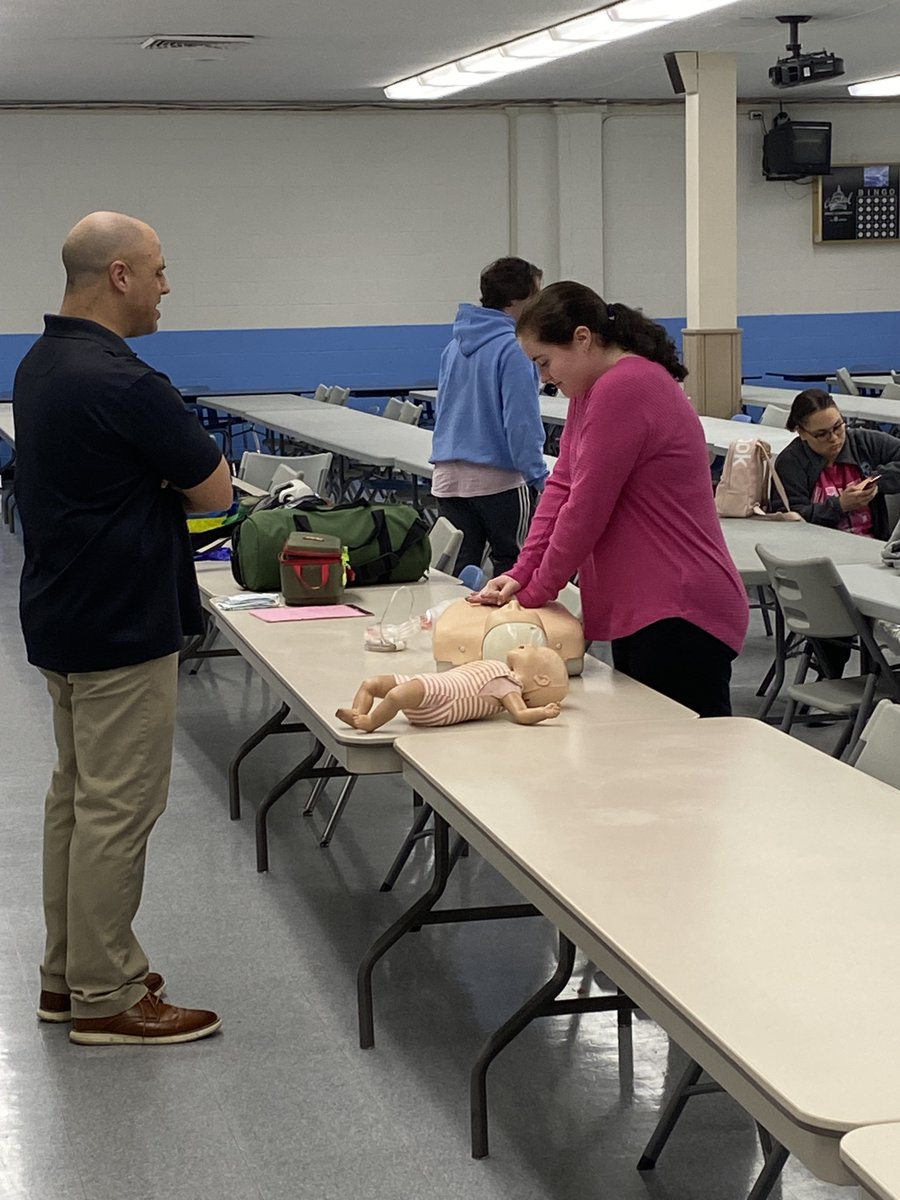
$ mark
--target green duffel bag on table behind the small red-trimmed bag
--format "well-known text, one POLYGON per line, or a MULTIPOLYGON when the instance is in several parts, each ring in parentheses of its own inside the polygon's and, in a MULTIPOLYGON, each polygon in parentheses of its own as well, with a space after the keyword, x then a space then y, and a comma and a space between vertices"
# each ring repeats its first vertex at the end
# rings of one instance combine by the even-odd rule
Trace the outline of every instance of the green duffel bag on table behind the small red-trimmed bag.
POLYGON ((298 508, 252 512, 234 530, 232 570, 241 587, 277 592, 278 554, 288 534, 324 533, 347 547, 356 587, 413 583, 428 570, 428 526, 412 504, 329 505, 308 499, 298 508))

